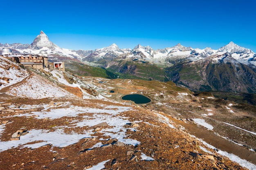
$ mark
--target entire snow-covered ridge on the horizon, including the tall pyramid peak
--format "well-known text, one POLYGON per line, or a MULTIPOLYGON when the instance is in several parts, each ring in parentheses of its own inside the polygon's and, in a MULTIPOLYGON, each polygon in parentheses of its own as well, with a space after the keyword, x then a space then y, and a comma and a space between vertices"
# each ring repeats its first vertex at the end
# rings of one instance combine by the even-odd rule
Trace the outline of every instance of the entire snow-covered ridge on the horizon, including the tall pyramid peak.
POLYGON ((41 31, 39 35, 35 38, 29 46, 27 44, 1 44, 0 51, 2 48, 8 47, 13 51, 18 51, 22 54, 38 54, 40 50, 47 51, 48 55, 54 56, 65 56, 71 58, 78 58, 87 62, 97 63, 100 59, 110 59, 119 58, 130 58, 131 60, 145 60, 153 62, 155 64, 165 63, 176 59, 188 59, 191 61, 203 60, 205 58, 213 60, 213 62, 220 62, 227 55, 230 55, 231 59, 236 60, 240 63, 249 65, 253 64, 256 66, 256 54, 244 47, 234 44, 234 42, 229 42, 226 46, 221 47, 218 50, 213 50, 209 47, 205 49, 193 49, 191 47, 185 47, 181 44, 177 44, 173 47, 168 47, 165 49, 154 50, 150 46, 141 46, 138 44, 134 49, 119 49, 117 44, 111 44, 108 47, 103 47, 101 49, 95 49, 94 51, 86 50, 70 50, 62 49, 56 44, 52 43, 47 35, 41 31))

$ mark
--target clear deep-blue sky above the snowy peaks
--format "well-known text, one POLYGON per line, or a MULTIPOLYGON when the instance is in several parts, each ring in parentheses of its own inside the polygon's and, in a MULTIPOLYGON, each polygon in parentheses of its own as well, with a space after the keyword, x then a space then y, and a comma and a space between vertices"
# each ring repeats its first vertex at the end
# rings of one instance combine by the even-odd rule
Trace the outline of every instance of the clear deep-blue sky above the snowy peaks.
POLYGON ((0 8, 2 44, 31 44, 42 30, 74 50, 219 49, 233 41, 256 53, 256 0, 2 0, 0 8))

